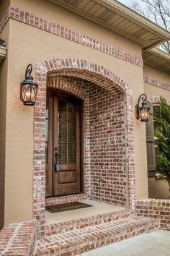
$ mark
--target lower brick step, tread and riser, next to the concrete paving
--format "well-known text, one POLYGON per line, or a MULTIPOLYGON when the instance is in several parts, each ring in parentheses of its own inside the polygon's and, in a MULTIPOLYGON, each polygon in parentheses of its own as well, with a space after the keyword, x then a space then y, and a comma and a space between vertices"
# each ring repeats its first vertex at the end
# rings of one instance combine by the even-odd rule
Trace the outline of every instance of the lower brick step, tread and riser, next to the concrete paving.
POLYGON ((160 221, 152 218, 125 218, 85 229, 68 231, 64 234, 48 236, 46 239, 37 241, 34 255, 77 255, 159 228, 160 221))

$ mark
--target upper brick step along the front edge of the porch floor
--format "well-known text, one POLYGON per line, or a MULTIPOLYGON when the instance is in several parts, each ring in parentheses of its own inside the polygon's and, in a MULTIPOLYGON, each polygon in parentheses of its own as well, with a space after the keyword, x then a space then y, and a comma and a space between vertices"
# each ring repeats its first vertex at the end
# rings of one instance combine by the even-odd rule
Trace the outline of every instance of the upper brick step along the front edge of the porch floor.
POLYGON ((134 216, 127 209, 114 210, 109 213, 98 214, 94 216, 89 216, 86 218, 78 218, 71 221, 63 221, 59 223, 46 224, 45 234, 46 236, 51 236, 53 234, 61 234, 67 231, 84 229, 88 226, 95 226, 102 223, 108 223, 110 221, 116 221, 122 218, 128 218, 134 216))

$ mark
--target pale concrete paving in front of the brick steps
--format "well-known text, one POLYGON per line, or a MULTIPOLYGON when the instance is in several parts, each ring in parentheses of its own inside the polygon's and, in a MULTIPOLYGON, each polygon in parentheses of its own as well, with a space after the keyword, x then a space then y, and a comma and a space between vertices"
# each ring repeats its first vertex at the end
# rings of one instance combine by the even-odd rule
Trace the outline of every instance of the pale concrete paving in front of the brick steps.
POLYGON ((170 256, 170 231, 154 231, 116 244, 94 249, 82 256, 170 256))

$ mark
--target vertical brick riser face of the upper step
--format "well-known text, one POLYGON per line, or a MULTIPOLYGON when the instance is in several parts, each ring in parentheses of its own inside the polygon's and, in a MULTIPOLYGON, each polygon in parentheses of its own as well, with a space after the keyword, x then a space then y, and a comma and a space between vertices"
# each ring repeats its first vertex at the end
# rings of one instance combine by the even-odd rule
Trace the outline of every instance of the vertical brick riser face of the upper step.
POLYGON ((76 229, 84 229, 87 228, 88 226, 96 226, 100 225, 103 223, 108 223, 111 221, 117 221, 122 218, 128 218, 128 217, 133 217, 135 216, 134 213, 126 212, 126 213, 121 213, 120 215, 116 215, 113 213, 111 216, 107 217, 106 215, 99 216, 92 216, 89 218, 85 219, 77 219, 74 221, 69 221, 69 223, 54 223, 52 225, 46 226, 46 231, 45 234, 46 236, 51 236, 53 234, 62 234, 68 231, 73 231, 76 229))

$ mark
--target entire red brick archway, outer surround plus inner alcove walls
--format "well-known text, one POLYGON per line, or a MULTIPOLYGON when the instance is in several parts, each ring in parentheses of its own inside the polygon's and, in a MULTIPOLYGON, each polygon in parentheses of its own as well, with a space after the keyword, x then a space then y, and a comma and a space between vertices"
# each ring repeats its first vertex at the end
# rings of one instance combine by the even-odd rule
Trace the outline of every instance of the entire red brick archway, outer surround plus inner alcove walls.
POLYGON ((127 205, 134 210, 133 102, 129 85, 109 69, 82 59, 41 61, 35 67, 35 82, 39 87, 34 121, 33 211, 38 234, 45 233, 47 82, 51 87, 68 91, 84 100, 86 194, 97 200, 127 205), (70 77, 69 80, 72 77, 72 82, 55 79, 66 76, 70 77), (47 77, 50 78, 47 80, 47 77), (86 82, 82 82, 84 80, 86 82))

